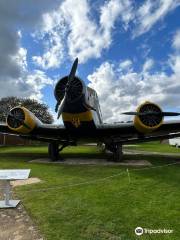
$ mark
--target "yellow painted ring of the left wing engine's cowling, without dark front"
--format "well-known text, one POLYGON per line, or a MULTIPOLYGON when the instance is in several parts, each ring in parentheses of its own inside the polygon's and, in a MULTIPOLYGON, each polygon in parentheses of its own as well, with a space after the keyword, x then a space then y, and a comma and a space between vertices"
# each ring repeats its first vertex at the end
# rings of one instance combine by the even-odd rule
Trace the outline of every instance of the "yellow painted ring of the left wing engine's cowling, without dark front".
POLYGON ((36 117, 25 107, 19 107, 19 108, 21 108, 25 114, 24 125, 21 125, 18 128, 12 128, 8 125, 8 123, 7 125, 11 130, 16 131, 18 133, 23 133, 23 134, 30 133, 36 127, 36 124, 37 124, 36 117))

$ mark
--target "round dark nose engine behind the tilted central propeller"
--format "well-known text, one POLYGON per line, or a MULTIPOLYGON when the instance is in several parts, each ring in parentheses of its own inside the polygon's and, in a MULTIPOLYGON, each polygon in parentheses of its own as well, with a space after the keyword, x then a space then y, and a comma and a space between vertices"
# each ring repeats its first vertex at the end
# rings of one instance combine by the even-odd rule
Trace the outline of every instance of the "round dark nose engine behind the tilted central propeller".
MULTIPOLYGON (((64 97, 67 81, 68 76, 63 77, 57 82, 55 86, 54 96, 57 102, 61 102, 64 97)), ((85 93, 84 83, 79 77, 76 76, 71 82, 71 86, 67 95, 67 101, 70 103, 75 102, 82 96, 83 93, 85 93)))

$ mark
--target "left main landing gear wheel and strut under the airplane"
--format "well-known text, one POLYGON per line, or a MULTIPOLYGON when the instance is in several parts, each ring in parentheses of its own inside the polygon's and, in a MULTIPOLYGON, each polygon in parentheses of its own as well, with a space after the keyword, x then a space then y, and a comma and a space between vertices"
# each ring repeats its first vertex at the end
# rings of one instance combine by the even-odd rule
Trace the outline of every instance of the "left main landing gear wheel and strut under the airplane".
POLYGON ((48 146, 48 153, 49 153, 49 157, 50 159, 54 162, 57 160, 62 160, 61 156, 59 155, 59 152, 63 150, 63 148, 67 147, 68 144, 63 144, 60 148, 59 148, 59 143, 57 142, 51 142, 49 143, 48 146))

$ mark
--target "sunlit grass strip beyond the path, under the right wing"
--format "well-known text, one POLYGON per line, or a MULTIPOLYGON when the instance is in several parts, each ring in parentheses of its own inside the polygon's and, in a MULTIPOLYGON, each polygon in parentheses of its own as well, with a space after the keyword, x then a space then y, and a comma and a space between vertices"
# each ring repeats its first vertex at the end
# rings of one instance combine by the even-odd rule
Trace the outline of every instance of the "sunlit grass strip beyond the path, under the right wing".
POLYGON ((179 153, 180 148, 170 146, 169 144, 160 144, 158 141, 135 144, 130 146, 125 146, 128 149, 140 150, 140 151, 152 151, 161 153, 179 153))

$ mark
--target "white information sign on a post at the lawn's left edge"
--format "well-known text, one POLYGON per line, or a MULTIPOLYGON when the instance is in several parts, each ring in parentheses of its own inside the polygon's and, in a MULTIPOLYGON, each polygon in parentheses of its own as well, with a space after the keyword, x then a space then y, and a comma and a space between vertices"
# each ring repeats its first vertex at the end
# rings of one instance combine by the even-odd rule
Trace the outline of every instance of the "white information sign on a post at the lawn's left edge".
POLYGON ((4 182, 4 196, 5 199, 0 201, 0 208, 14 208, 18 205, 20 200, 10 200, 12 180, 25 180, 28 179, 30 169, 12 169, 0 170, 0 181, 4 182))

